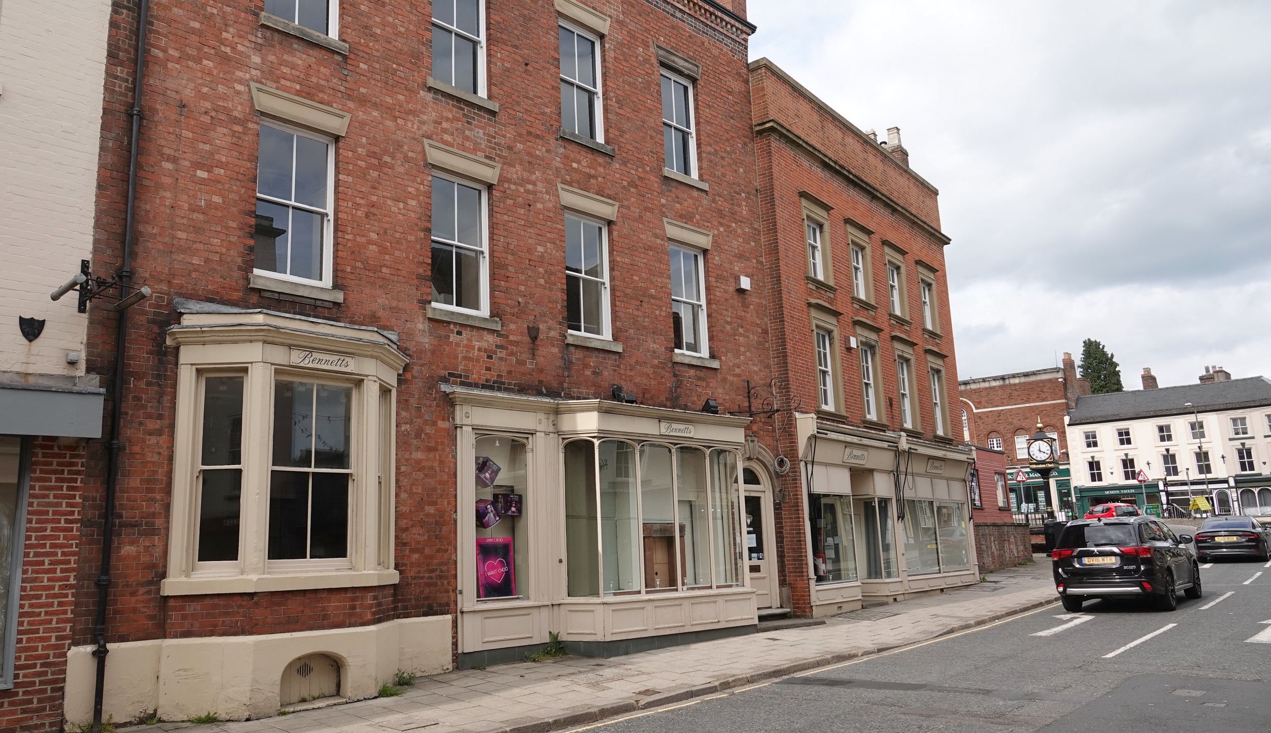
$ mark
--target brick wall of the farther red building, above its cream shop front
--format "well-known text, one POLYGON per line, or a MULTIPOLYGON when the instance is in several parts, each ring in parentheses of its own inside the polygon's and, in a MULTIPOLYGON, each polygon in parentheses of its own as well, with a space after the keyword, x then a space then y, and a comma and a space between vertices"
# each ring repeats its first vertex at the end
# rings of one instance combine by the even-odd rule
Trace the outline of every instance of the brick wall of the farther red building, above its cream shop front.
MULTIPOLYGON (((867 142, 838 113, 822 107, 820 100, 802 89, 766 60, 751 64, 754 121, 760 128, 756 138, 759 161, 760 211, 768 278, 768 324, 773 344, 773 365, 780 380, 783 407, 798 405, 801 412, 817 408, 817 381, 813 326, 808 301, 815 300, 839 311, 839 358, 841 362, 843 405, 840 415, 825 419, 867 427, 860 389, 858 351, 846 347, 855 335, 857 324, 873 324, 878 335, 880 381, 877 385, 877 417, 869 429, 900 429, 896 365, 892 338, 913 344, 913 405, 920 431, 915 436, 928 440, 933 434, 932 399, 924 349, 944 354, 947 390, 947 434, 961 442, 957 410, 957 363, 953 348, 952 321, 948 307, 948 283, 944 273, 946 240, 938 234, 939 219, 935 189, 907 168, 897 164, 888 152, 867 142), (765 127, 766 126, 766 127, 765 127), (874 192, 894 197, 885 202, 874 192), (812 283, 807 276, 807 240, 801 193, 808 193, 831 207, 830 221, 822 243, 831 253, 834 286, 812 283), (907 211, 897 203, 910 207, 907 211), (852 295, 850 250, 845 220, 866 227, 869 236, 873 306, 852 295), (911 319, 895 319, 887 314, 887 276, 883 240, 894 243, 904 255, 907 307, 911 319), (921 260, 935 271, 937 328, 921 326, 916 263, 921 260)), ((785 420, 789 413, 782 415, 785 420)), ((783 422, 779 448, 787 456, 802 454, 796 445, 793 420, 783 422)), ((953 442, 953 441, 949 441, 953 442)), ((793 460, 793 459, 792 459, 793 460)), ((797 462, 796 462, 797 465, 797 462)), ((810 612, 806 550, 807 517, 798 470, 783 476, 787 497, 796 498, 778 508, 778 548, 784 554, 783 584, 791 587, 796 612, 810 612)))

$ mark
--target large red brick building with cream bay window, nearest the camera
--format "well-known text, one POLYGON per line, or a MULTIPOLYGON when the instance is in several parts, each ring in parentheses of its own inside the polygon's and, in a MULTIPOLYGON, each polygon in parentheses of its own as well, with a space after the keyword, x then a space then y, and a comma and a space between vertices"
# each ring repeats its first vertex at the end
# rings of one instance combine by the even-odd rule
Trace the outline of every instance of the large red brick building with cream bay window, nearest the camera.
POLYGON ((365 697, 549 631, 587 654, 752 631, 779 598, 741 556, 773 420, 728 414, 771 379, 744 1, 338 5, 153 4, 145 33, 114 5, 94 268, 125 266, 136 105, 126 264, 154 296, 128 316, 105 713, 365 697))

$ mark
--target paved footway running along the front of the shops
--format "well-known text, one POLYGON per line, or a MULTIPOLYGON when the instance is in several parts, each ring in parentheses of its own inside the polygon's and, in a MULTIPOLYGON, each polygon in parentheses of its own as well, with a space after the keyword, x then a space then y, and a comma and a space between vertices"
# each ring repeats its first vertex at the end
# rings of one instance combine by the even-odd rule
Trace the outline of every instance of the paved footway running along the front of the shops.
POLYGON ((130 733, 543 733, 866 658, 972 629, 1056 601, 1050 562, 1008 568, 986 582, 826 619, 825 625, 749 634, 611 659, 563 657, 426 677, 377 697, 259 720, 159 723, 130 733))

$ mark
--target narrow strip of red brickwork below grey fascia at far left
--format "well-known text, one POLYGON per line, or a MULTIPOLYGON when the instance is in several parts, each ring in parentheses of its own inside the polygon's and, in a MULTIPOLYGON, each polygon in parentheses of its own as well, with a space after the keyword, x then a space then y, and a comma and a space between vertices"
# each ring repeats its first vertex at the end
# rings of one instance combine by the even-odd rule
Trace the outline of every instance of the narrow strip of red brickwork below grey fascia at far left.
POLYGON ((0 730, 61 730, 66 650, 74 619, 80 492, 79 442, 36 438, 27 501, 14 687, 0 691, 0 730))

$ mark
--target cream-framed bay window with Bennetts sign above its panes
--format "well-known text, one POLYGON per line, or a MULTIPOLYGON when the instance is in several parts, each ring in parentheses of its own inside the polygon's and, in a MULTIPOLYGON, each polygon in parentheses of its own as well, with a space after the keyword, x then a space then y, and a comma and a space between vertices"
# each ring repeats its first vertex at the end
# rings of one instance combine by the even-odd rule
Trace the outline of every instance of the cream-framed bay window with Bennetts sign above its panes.
POLYGON ((187 313, 168 343, 179 368, 161 593, 395 583, 394 403, 405 357, 393 339, 241 311, 187 313))

